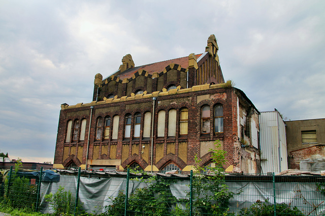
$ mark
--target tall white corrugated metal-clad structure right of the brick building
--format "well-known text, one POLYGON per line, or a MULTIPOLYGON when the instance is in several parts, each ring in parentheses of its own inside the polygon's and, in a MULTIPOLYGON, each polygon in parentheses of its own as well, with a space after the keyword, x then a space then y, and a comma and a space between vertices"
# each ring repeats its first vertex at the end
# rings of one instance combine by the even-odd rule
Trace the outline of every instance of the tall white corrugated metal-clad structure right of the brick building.
POLYGON ((262 172, 277 174, 286 170, 285 124, 282 117, 277 110, 261 112, 259 124, 262 172))

